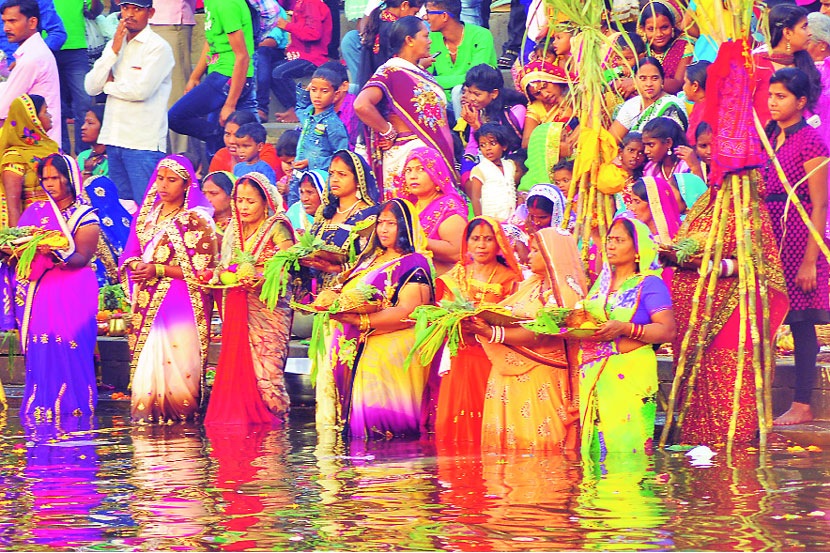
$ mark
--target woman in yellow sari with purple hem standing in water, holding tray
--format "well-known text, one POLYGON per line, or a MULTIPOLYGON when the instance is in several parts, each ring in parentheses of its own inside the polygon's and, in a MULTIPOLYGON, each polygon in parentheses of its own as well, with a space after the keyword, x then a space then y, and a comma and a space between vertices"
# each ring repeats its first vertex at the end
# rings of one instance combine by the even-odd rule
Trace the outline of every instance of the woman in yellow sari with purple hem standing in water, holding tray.
POLYGON ((341 291, 342 297, 375 286, 382 308, 368 315, 331 316, 342 323, 329 357, 344 431, 352 437, 417 436, 420 431, 429 367, 417 360, 407 367, 405 360, 415 343, 415 329, 407 319, 416 307, 433 300, 425 242, 409 202, 383 204, 372 244, 341 291))

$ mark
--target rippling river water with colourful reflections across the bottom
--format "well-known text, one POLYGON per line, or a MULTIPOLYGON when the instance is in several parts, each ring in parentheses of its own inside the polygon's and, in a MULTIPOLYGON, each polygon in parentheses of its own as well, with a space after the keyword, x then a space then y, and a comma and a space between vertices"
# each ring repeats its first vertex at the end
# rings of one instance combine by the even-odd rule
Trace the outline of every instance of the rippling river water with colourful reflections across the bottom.
POLYGON ((830 454, 610 458, 0 414, 2 550, 826 550, 830 454))

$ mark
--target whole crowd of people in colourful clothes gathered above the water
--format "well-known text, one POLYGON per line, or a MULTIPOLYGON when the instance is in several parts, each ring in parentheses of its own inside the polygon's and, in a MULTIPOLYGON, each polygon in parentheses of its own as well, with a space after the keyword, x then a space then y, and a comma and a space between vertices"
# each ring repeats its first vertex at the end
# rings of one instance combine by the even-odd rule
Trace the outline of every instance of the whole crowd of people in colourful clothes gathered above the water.
MULTIPOLYGON (((98 288, 120 283, 137 423, 286 420, 292 318, 328 295, 341 309, 314 316, 309 350, 321 433, 648 453, 661 400, 655 351, 671 344, 677 360, 685 340, 705 355, 694 393, 681 382, 689 407, 678 439, 750 442, 757 383, 737 359, 759 350, 739 341, 737 298, 739 229, 753 225, 769 283, 760 339, 786 322, 795 343, 795 397, 775 424, 811 420, 816 325, 830 323, 824 4, 759 7, 770 36, 759 30, 746 51, 718 49, 706 5, 649 0, 625 21, 607 11, 603 125, 616 157, 588 185, 616 213, 576 235, 585 213, 575 206, 589 205, 577 202, 587 190, 575 173, 586 166, 579 138, 591 130, 577 109, 578 26, 551 6, 513 2, 510 28, 523 31, 497 57, 486 2, 359 3, 346 2, 363 17, 340 42, 339 11, 321 0, 204 0, 206 42, 190 71, 192 29, 171 37, 192 27, 195 4, 121 0, 83 92, 69 84, 77 77, 58 55, 60 36, 39 32, 52 2, 0 6, 18 46, 0 84, 0 226, 57 231, 68 244, 38 245, 27 270, 13 245, 0 254, 2 324, 18 329, 26 355, 22 417, 94 411, 98 288), (330 59, 338 45, 345 62, 330 59), (750 55, 753 71, 730 75, 750 55), (274 145, 263 126, 271 93, 276 120, 296 122, 274 145), (718 191, 723 159, 760 143, 753 110, 774 156, 755 150, 741 166, 763 199, 741 222, 718 191), (817 233, 792 214, 793 197, 817 233), (673 249, 702 245, 716 223, 726 228, 718 264, 673 249), (313 254, 289 266, 290 290, 270 302, 269 263, 300 246, 313 254), (704 332, 690 311, 699 275, 713 272, 704 332), (373 308, 360 308, 355 298, 368 296, 373 308), (413 355, 418 308, 461 304, 512 319, 464 317, 460 344, 413 355), (215 308, 222 350, 207 401, 215 308), (590 313, 596 327, 515 323, 557 308, 590 313)), ((64 48, 83 49, 74 39, 84 11, 70 19, 70 2, 54 4, 64 48)), ((88 4, 87 16, 102 9, 88 4)))

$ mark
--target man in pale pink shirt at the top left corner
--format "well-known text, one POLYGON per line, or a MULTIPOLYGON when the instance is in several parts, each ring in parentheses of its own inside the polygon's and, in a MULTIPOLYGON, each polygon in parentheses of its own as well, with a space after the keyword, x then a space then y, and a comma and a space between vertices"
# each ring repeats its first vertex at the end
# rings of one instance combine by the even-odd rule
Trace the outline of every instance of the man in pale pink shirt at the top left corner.
MULTIPOLYGON (((9 79, 0 83, 0 120, 9 115, 12 100, 22 94, 37 94, 46 99, 46 106, 55 121, 61 120, 60 80, 55 56, 38 32, 40 7, 36 0, 6 0, 0 6, 3 30, 12 44, 18 44, 14 53, 14 69, 9 79)), ((61 143, 61 126, 47 131, 49 137, 61 143)))

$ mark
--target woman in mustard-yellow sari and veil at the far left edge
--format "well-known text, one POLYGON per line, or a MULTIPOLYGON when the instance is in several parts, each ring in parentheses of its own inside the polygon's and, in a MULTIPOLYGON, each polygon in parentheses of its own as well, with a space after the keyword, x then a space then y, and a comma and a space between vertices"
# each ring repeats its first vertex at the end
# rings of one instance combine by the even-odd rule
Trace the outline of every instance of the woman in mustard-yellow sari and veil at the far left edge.
POLYGON ((12 101, 0 131, 0 228, 16 226, 24 209, 48 200, 40 187, 37 164, 60 149, 46 134, 51 128, 52 116, 42 96, 24 94, 12 101))

